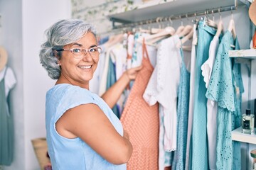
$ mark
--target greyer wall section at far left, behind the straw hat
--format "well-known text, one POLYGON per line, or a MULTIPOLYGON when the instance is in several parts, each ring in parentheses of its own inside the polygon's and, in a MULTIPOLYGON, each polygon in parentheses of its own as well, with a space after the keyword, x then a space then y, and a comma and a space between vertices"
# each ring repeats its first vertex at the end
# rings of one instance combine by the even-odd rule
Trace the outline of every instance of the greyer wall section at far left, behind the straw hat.
POLYGON ((24 106, 23 106, 23 65, 22 65, 22 9, 21 0, 0 0, 1 28, 0 45, 9 56, 7 65, 14 70, 17 84, 10 92, 11 114, 14 115, 14 162, 7 169, 24 169, 24 106))

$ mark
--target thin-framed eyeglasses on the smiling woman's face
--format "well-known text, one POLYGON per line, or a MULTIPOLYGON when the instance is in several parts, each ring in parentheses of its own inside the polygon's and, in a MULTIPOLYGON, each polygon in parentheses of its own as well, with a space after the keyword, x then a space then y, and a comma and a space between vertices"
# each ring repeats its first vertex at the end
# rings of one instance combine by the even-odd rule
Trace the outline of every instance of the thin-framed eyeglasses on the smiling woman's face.
POLYGON ((70 48, 69 50, 61 49, 56 51, 69 51, 73 53, 76 59, 82 59, 83 57, 85 57, 87 52, 89 52, 92 57, 99 57, 100 52, 102 52, 102 49, 101 47, 92 47, 90 49, 85 49, 83 47, 75 47, 70 48))

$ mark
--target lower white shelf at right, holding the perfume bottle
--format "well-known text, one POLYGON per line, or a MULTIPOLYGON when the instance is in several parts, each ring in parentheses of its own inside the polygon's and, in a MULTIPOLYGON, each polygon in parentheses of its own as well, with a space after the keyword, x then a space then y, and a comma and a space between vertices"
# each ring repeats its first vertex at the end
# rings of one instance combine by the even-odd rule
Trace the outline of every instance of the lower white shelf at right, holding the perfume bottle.
POLYGON ((252 134, 245 134, 242 133, 242 127, 237 128, 231 132, 232 140, 238 141, 238 142, 245 142, 250 144, 256 144, 256 135, 252 134))

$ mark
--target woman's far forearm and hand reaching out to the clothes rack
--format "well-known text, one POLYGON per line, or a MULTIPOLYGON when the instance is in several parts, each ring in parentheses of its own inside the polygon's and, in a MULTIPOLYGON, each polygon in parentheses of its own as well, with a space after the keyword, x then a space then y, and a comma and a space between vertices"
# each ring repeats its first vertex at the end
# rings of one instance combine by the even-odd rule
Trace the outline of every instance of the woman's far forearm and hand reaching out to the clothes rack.
POLYGON ((129 82, 137 77, 140 69, 142 69, 142 66, 128 69, 122 74, 117 82, 110 87, 110 89, 107 89, 105 94, 102 94, 103 100, 110 106, 110 108, 114 107, 129 82))

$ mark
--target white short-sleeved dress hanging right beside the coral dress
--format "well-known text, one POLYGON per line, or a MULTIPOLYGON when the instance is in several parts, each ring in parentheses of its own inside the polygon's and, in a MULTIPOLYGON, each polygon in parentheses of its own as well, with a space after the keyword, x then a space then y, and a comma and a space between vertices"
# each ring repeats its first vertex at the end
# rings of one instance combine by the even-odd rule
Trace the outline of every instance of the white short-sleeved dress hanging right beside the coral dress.
POLYGON ((160 127, 159 132, 159 169, 164 168, 164 152, 176 150, 177 95, 181 69, 181 53, 176 44, 179 41, 178 35, 174 35, 159 42, 156 67, 143 95, 150 106, 158 101, 159 107, 163 108, 164 124, 160 121, 160 126, 164 128, 160 127), (164 136, 161 130, 164 130, 164 136))

